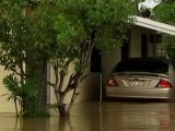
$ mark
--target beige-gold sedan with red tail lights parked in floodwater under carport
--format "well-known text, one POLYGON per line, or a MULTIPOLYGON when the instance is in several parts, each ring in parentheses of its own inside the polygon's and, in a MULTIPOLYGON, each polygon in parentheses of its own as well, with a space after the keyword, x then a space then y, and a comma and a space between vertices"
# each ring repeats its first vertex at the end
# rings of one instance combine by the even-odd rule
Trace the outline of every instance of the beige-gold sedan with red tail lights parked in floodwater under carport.
POLYGON ((106 81, 106 97, 175 99, 175 69, 165 58, 120 61, 106 81))

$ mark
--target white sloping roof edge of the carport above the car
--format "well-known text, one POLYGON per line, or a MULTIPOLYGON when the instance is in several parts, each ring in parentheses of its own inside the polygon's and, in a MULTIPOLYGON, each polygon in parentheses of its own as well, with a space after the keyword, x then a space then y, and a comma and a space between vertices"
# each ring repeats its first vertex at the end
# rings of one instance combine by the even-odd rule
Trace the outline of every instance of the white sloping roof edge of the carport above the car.
POLYGON ((150 19, 141 17, 141 16, 135 16, 136 22, 135 25, 142 26, 145 28, 154 29, 161 33, 170 34, 170 35, 175 35, 175 26, 156 22, 150 19))

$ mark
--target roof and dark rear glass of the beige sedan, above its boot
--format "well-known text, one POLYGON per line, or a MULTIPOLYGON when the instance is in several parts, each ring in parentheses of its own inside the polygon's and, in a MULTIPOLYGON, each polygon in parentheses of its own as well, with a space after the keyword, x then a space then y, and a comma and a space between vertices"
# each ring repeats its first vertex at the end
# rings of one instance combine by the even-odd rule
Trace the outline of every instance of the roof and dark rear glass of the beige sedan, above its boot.
POLYGON ((172 62, 166 58, 129 58, 118 62, 112 72, 122 71, 147 71, 167 72, 167 67, 172 62))

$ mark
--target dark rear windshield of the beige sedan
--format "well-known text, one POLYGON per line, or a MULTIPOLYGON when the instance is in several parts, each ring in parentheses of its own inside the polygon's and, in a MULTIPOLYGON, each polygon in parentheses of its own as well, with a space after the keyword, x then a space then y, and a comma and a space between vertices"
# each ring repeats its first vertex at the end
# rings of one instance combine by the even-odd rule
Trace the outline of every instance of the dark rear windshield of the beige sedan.
POLYGON ((115 72, 151 72, 166 73, 168 63, 160 60, 128 60, 119 62, 115 72))

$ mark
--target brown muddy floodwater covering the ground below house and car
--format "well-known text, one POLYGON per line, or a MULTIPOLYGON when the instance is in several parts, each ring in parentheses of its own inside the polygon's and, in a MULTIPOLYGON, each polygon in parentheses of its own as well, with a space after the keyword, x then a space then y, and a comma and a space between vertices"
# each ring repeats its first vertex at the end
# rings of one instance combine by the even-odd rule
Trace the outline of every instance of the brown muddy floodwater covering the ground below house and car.
POLYGON ((0 131, 175 131, 175 103, 107 102, 73 107, 70 119, 16 119, 0 114, 0 131))

